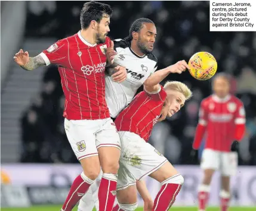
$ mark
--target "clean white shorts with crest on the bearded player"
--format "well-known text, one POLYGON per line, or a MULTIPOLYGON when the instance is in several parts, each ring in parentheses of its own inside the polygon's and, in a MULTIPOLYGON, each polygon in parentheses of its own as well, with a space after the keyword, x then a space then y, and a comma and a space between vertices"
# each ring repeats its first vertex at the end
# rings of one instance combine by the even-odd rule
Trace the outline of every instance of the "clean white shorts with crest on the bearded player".
POLYGON ((78 160, 98 155, 98 148, 117 147, 121 150, 116 125, 110 118, 64 121, 67 139, 78 160))

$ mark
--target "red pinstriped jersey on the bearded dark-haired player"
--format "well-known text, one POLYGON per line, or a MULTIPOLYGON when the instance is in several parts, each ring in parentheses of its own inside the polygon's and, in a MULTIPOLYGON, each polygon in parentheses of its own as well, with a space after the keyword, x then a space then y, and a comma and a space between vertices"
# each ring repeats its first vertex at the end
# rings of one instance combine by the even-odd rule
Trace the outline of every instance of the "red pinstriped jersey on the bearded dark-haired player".
POLYGON ((67 119, 103 119, 110 117, 105 100, 106 42, 91 45, 81 32, 51 45, 40 55, 45 64, 57 64, 66 102, 67 119))

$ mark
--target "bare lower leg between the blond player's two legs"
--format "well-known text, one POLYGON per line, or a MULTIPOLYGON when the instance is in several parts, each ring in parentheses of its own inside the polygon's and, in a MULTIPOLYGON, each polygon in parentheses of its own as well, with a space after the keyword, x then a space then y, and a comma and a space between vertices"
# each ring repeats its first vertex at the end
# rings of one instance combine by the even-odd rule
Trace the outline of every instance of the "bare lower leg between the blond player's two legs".
POLYGON ((140 194, 141 198, 144 201, 144 211, 151 211, 154 206, 154 202, 151 199, 151 196, 149 194, 149 191, 147 190, 146 182, 143 180, 136 182, 136 187, 138 190, 138 193, 140 194))

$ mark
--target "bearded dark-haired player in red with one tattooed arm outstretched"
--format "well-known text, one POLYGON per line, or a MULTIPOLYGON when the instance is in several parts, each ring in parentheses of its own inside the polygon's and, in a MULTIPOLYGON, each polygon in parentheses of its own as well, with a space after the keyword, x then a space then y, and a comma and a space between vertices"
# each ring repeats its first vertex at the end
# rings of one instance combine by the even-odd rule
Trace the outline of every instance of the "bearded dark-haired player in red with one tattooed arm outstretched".
MULTIPOLYGON (((78 33, 58 40, 33 58, 22 49, 14 56, 14 61, 24 70, 34 70, 41 65, 58 65, 66 97, 64 127, 83 169, 73 181, 61 209, 63 211, 73 209, 98 177, 100 167, 103 170, 98 191, 100 211, 111 211, 116 197, 113 191, 116 191, 118 178, 120 139, 105 100, 104 74, 107 62, 105 51, 113 46, 107 37, 111 15, 109 5, 87 2, 81 10, 82 29, 78 33)), ((110 58, 108 61, 111 64, 110 58)), ((118 77, 124 75, 122 78, 125 80, 125 68, 116 67, 116 70, 118 77)))

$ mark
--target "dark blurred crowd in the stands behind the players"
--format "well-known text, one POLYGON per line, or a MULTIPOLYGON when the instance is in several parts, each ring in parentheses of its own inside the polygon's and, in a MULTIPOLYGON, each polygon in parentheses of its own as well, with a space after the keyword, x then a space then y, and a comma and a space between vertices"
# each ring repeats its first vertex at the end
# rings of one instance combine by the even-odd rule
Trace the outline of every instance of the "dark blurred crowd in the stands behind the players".
MULTIPOLYGON (((26 37, 55 37, 80 29, 81 1, 29 1, 26 37), (36 24, 35 24, 36 23, 36 24)), ((246 136, 239 146, 239 164, 256 165, 256 34, 209 32, 209 1, 110 1, 114 10, 109 36, 128 35, 140 17, 153 20, 158 36, 154 54, 158 68, 207 51, 218 61, 218 72, 233 76, 232 92, 245 104, 246 136)), ((193 97, 172 118, 156 124, 150 142, 174 164, 196 164, 191 155, 201 100, 211 95, 211 80, 198 81, 189 73, 170 75, 193 90, 193 97)), ((77 162, 63 125, 64 96, 57 67, 45 67, 42 90, 21 117, 21 162, 77 162)))

